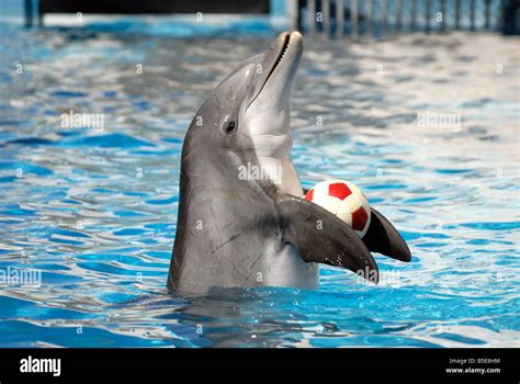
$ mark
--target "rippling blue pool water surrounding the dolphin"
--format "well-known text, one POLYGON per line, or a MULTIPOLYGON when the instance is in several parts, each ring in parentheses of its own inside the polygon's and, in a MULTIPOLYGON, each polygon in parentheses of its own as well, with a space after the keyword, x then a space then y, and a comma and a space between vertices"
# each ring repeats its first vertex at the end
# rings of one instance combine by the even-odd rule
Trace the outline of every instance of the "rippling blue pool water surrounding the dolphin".
POLYGON ((0 287, 1 347, 520 346, 518 39, 307 38, 304 185, 358 183, 412 262, 377 255, 378 286, 323 267, 317 291, 181 297, 165 286, 185 128, 271 34, 2 36, 0 268, 39 270, 42 286, 0 287), (61 127, 70 110, 104 113, 104 129, 61 127), (439 114, 460 124, 419 123, 439 114))

